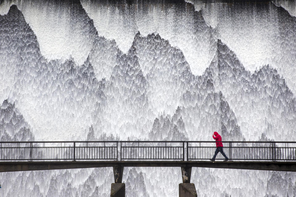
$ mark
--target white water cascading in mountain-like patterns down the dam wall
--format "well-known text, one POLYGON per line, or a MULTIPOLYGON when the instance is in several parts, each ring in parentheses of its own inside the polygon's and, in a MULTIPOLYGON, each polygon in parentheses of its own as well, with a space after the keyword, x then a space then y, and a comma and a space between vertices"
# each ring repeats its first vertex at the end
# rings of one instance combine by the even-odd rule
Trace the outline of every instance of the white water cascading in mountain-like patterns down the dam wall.
MULTIPOLYGON (((0 1, 0 139, 289 140, 295 1, 0 1), (36 17, 37 16, 37 17, 36 17)), ((109 196, 111 168, 1 173, 1 196, 109 196)), ((178 196, 179 168, 125 168, 178 196)), ((199 196, 294 196, 294 173, 192 169, 199 196)))

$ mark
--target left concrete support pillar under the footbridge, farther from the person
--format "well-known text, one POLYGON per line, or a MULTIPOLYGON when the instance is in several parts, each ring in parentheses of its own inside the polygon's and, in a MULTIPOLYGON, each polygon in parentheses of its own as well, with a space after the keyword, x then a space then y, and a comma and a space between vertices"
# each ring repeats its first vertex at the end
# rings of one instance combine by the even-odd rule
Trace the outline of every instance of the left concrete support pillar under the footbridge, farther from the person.
POLYGON ((125 184, 122 182, 123 167, 114 166, 113 167, 114 182, 111 184, 111 194, 110 197, 125 197, 125 184))

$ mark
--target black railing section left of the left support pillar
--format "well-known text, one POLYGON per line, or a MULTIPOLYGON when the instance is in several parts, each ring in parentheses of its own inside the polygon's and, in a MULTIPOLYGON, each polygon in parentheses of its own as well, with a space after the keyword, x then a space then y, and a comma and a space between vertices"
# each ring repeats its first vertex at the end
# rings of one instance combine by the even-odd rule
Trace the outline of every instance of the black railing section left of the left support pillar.
POLYGON ((0 160, 117 160, 117 141, 0 142, 0 160))

